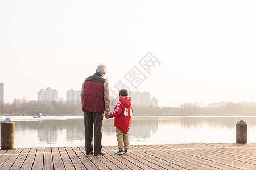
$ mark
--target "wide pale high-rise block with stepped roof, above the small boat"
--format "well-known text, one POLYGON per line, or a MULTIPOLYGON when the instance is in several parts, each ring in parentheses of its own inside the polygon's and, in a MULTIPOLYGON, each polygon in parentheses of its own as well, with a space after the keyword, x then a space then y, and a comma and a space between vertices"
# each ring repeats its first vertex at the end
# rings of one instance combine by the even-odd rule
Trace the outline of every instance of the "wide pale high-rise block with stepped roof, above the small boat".
POLYGON ((53 90, 48 87, 38 92, 38 101, 49 103, 52 100, 58 101, 58 91, 56 89, 53 90))

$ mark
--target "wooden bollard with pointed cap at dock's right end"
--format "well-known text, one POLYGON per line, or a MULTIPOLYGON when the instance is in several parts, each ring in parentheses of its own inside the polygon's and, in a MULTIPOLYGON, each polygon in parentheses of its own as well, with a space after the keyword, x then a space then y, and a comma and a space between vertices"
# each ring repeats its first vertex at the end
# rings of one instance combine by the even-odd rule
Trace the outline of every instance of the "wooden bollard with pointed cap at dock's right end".
POLYGON ((237 143, 247 143, 247 124, 243 120, 237 122, 237 143))

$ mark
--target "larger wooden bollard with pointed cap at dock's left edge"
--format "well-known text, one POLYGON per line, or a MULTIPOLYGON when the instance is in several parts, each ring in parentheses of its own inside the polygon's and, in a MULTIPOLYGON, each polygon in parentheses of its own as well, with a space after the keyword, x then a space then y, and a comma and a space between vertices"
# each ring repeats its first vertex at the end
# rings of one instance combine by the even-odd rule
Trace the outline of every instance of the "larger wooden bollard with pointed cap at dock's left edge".
POLYGON ((14 148, 15 123, 8 117, 1 124, 1 150, 14 148))

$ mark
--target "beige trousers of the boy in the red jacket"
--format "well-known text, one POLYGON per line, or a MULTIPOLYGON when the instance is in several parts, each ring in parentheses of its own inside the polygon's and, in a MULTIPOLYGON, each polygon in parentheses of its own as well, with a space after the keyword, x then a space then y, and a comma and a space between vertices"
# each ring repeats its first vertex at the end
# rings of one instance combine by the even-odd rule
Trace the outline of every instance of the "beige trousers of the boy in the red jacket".
POLYGON ((117 132, 117 142, 118 142, 118 150, 121 151, 123 149, 127 150, 129 149, 129 133, 123 132, 116 129, 117 132))

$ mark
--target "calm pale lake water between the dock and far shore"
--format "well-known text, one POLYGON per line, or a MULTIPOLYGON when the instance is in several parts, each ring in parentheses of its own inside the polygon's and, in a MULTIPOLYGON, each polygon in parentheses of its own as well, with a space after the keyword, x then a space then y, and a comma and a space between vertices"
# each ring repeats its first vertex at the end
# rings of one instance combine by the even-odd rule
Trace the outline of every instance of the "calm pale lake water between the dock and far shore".
MULTIPOLYGON (((15 148, 84 146, 84 117, 10 118, 15 122, 15 148)), ((248 125, 247 142, 256 142, 256 116, 133 116, 130 145, 236 143, 241 119, 248 125)), ((104 119, 102 145, 117 145, 113 122, 104 119)))

